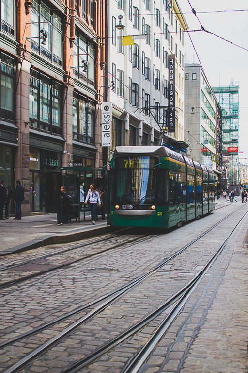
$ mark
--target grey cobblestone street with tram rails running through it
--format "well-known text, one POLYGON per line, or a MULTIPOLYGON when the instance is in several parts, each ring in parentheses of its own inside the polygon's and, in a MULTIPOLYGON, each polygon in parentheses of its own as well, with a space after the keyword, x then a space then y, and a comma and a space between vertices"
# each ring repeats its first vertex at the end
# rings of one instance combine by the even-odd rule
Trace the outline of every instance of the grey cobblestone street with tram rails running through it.
POLYGON ((113 232, 1 257, 0 372, 12 372, 10 367, 19 359, 30 356, 51 338, 58 338, 55 345, 32 356, 22 372, 67 372, 81 360, 75 372, 125 372, 129 359, 169 317, 174 302, 163 306, 164 302, 202 271, 239 220, 185 304, 135 369, 140 373, 246 372, 247 205, 220 203, 217 207, 210 216, 166 233, 113 232), (176 254, 187 244, 190 246, 176 254), (17 263, 22 265, 14 267, 17 263), (65 266, 53 269, 54 263, 65 266), (159 263, 161 267, 155 269, 159 263), (39 274, 44 268, 49 272, 39 274), (22 273, 34 277, 22 280, 22 273), (18 285, 6 287, 10 279, 18 280, 18 285), (134 280, 137 282, 132 285, 134 280), (129 289, 123 288, 127 285, 129 289), (121 339, 155 311, 148 322, 121 339), (77 326, 61 338, 76 322, 77 326), (43 329, 39 329, 41 325, 43 329), (23 335, 35 328, 34 334, 23 335), (15 341, 16 337, 20 339, 15 341), (114 339, 111 349, 105 349, 114 339), (6 342, 10 344, 5 346, 6 342), (97 355, 100 347, 103 350, 97 355))

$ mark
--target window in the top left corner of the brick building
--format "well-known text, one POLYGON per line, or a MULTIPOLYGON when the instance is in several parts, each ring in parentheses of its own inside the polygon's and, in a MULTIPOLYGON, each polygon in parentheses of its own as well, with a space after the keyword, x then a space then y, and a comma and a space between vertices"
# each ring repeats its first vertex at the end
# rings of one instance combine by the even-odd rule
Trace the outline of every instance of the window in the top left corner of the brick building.
POLYGON ((1 31, 15 36, 15 1, 1 0, 1 31))

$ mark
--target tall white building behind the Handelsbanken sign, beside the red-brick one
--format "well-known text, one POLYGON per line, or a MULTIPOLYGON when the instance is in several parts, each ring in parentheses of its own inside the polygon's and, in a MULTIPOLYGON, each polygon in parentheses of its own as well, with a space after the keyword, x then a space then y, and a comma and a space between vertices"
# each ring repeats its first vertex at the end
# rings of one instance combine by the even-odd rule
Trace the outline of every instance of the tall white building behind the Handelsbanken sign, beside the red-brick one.
MULTIPOLYGON (((183 27, 179 26, 178 15, 175 17, 170 5, 167 0, 109 1, 105 101, 112 102, 113 107, 111 152, 118 145, 156 145, 163 142, 160 130, 166 124, 168 107, 168 57, 175 54, 177 39, 176 71, 177 74, 180 71, 180 81, 176 80, 176 97, 177 106, 179 99, 183 106, 183 27), (122 17, 121 21, 119 17, 122 17), (119 22, 124 30, 116 27, 119 22), (175 26, 176 22, 178 26, 175 26), (170 33, 170 28, 173 30, 175 27, 177 32, 170 33), (174 49, 169 46, 172 34, 176 34, 174 49), (135 38, 133 45, 122 45, 124 35, 145 36, 135 38)), ((173 6, 177 6, 176 1, 173 6)), ((178 110, 175 133, 165 138, 183 140, 183 115, 179 116, 178 110)))

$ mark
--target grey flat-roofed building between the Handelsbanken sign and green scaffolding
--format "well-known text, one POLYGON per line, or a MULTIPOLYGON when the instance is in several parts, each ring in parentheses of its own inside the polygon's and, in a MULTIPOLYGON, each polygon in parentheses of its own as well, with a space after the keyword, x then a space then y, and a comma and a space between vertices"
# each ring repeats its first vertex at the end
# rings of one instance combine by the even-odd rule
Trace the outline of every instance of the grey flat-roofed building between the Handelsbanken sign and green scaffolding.
MULTIPOLYGON (((185 137, 188 154, 221 175, 217 162, 217 100, 199 64, 185 65, 185 137)), ((220 123, 218 122, 218 127, 220 123)), ((218 138, 218 141, 221 141, 218 138)))

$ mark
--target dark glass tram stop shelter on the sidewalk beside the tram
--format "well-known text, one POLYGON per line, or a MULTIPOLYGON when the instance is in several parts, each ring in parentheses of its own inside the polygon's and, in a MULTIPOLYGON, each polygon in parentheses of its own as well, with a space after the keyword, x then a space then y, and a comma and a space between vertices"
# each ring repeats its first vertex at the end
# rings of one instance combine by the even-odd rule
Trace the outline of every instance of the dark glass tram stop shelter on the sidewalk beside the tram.
POLYGON ((106 191, 105 171, 82 166, 61 167, 60 169, 62 170, 63 185, 73 200, 70 204, 71 218, 78 220, 78 222, 85 221, 85 217, 89 215, 90 211, 89 205, 84 204, 88 190, 93 183, 96 187, 102 186, 102 190, 106 191))

